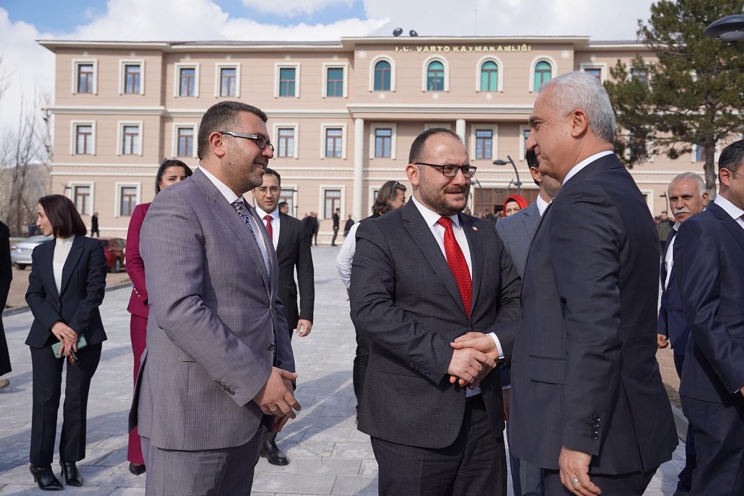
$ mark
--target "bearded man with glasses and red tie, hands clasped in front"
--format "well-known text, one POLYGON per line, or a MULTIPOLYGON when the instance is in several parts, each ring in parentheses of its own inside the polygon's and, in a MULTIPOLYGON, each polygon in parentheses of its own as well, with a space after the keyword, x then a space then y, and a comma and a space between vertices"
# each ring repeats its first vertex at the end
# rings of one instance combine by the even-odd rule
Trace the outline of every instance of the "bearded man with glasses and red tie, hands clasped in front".
POLYGON ((501 381, 489 372, 510 355, 519 276, 493 225, 461 213, 475 167, 458 135, 426 130, 408 161, 411 201, 356 231, 351 318, 371 340, 359 431, 380 495, 505 496, 501 381), (454 350, 469 331, 497 352, 454 350))

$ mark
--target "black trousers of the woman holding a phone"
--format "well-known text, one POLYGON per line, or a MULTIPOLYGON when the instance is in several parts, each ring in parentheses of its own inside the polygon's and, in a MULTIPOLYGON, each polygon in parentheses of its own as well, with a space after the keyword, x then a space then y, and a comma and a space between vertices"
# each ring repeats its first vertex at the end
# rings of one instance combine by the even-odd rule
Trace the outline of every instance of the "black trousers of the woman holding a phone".
MULTIPOLYGON (((77 363, 67 366, 65 405, 62 407, 60 460, 77 462, 86 457, 86 415, 91 379, 100 361, 101 344, 77 352, 77 363)), ((33 407, 31 409, 31 465, 50 465, 57 437, 57 410, 62 393, 65 358, 56 358, 51 345, 31 348, 33 407)))

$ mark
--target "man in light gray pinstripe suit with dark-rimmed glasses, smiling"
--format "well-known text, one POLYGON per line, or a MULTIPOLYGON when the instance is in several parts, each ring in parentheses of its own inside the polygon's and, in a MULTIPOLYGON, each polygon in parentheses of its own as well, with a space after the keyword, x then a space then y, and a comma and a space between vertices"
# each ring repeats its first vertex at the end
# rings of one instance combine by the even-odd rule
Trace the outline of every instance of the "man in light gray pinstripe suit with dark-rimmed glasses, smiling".
POLYGON ((278 263, 243 193, 274 155, 266 114, 226 101, 199 126, 199 165, 161 191, 142 226, 150 321, 130 424, 148 495, 249 495, 262 413, 300 405, 278 263))

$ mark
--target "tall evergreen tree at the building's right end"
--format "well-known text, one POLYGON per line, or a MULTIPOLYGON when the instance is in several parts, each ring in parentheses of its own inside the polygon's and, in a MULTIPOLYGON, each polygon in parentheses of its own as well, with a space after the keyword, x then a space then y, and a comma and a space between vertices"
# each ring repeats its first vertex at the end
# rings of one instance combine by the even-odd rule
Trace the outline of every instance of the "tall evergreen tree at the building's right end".
POLYGON ((628 167, 649 153, 678 158, 701 146, 714 196, 716 144, 744 131, 744 42, 708 39, 704 31, 743 6, 741 0, 661 0, 646 23, 638 20, 638 40, 658 60, 618 60, 605 83, 618 117, 615 151, 628 167))

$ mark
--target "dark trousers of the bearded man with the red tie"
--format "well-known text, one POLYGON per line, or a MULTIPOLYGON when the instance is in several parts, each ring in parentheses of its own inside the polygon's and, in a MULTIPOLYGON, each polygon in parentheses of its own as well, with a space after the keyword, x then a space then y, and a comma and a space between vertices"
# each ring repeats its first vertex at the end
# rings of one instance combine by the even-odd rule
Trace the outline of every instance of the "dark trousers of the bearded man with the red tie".
POLYGON ((481 395, 466 400, 460 433, 446 448, 419 448, 373 437, 372 449, 381 496, 507 494, 504 436, 491 431, 481 395))

